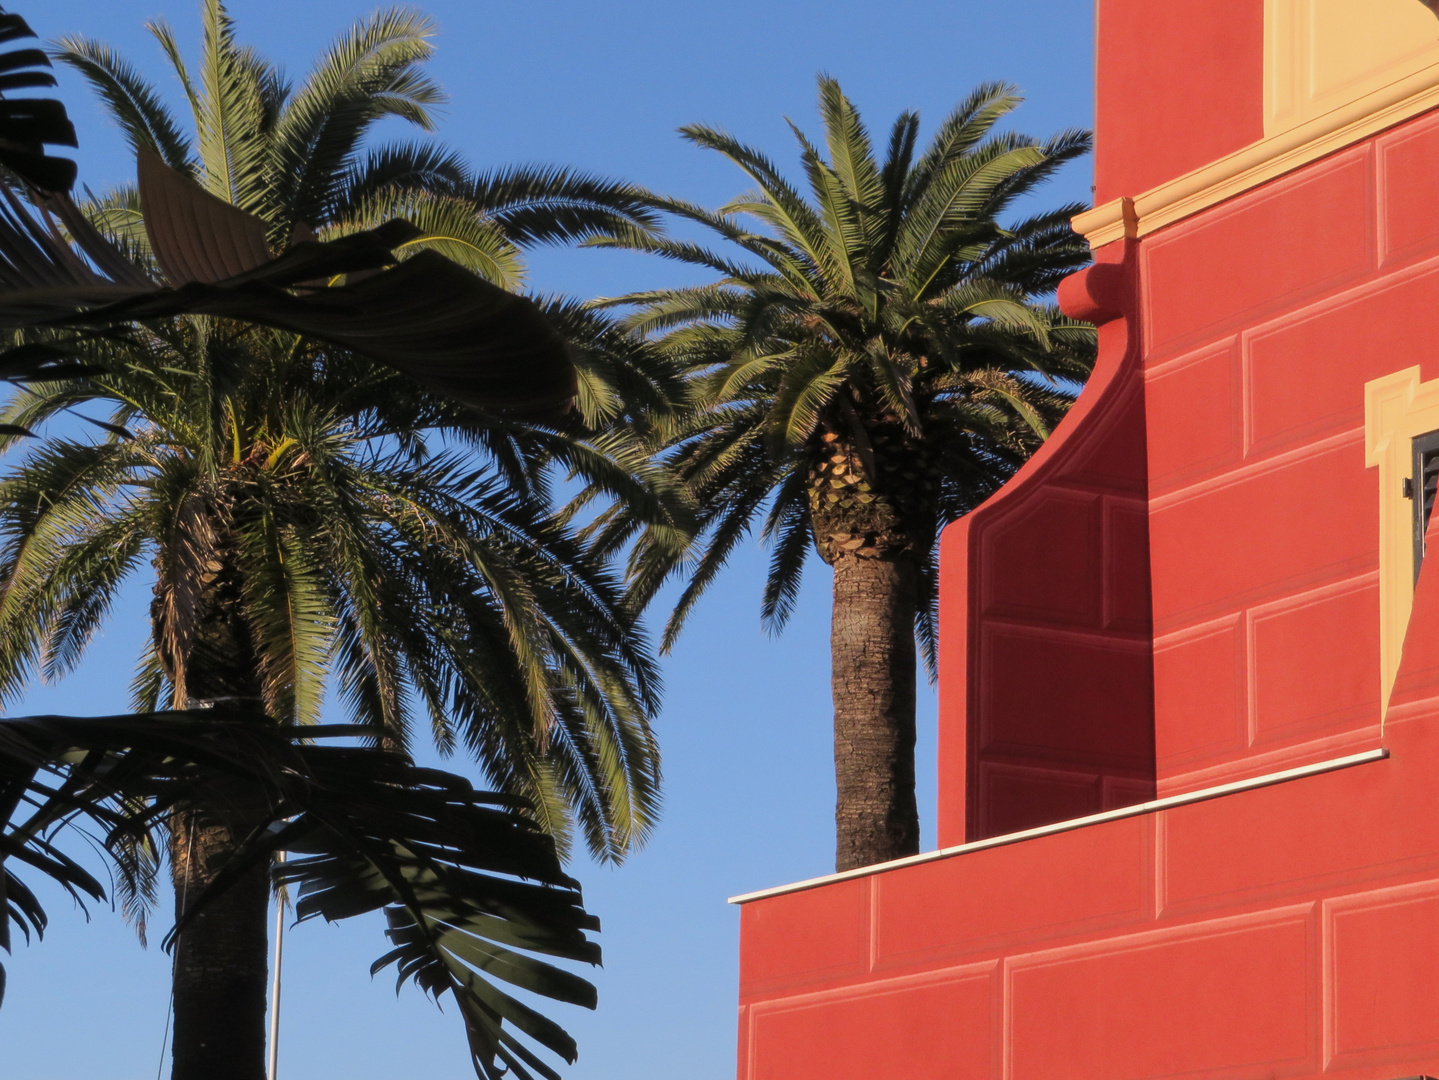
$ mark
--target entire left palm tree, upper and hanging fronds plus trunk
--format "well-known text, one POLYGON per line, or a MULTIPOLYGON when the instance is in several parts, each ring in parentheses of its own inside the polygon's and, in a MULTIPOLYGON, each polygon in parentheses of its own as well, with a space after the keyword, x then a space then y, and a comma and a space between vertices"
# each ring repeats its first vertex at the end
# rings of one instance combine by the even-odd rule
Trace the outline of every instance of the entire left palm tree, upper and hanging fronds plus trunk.
MULTIPOLYGON (((219 0, 203 14, 194 82, 168 30, 153 27, 191 106, 193 141, 106 47, 68 40, 58 53, 99 89, 140 152, 140 188, 88 210, 151 275, 196 279, 194 262, 163 239, 154 207, 164 200, 147 210, 147 175, 151 187, 193 177, 200 203, 227 204, 224 227, 235 250, 253 249, 250 266, 296 240, 304 250, 311 234, 344 239, 403 211, 419 232, 400 244, 413 256, 400 270, 445 256, 514 286, 519 244, 648 223, 629 188, 566 171, 475 178, 423 145, 363 157, 377 119, 426 127, 439 101, 419 69, 430 26, 413 13, 361 23, 298 91, 235 42, 219 0)), ((142 302, 131 314, 171 312, 142 302)), ((557 314, 603 334, 593 318, 557 314)), ((550 469, 568 466, 622 499, 645 496, 636 509, 662 519, 623 439, 586 431, 627 411, 606 393, 613 385, 662 388, 620 371, 623 360, 581 352, 578 417, 498 416, 335 338, 345 344, 340 334, 327 344, 324 334, 160 318, 78 342, 78 372, 10 403, 0 443, 46 437, 0 482, 0 695, 69 672, 117 591, 148 565, 138 710, 165 699, 230 703, 312 723, 332 680, 384 746, 403 751, 422 715, 443 749, 466 749, 491 784, 525 798, 561 848, 578 830, 593 853, 622 857, 658 804, 648 725, 658 685, 602 555, 547 515, 543 496, 550 469), (75 417, 96 437, 79 437, 75 417)), ((177 1080, 262 1073, 269 884, 256 864, 223 894, 212 886, 263 821, 249 798, 201 794, 173 808, 177 1080), (193 910, 200 896, 213 899, 193 910)), ((532 1015, 515 1022, 545 1030, 532 1015)))

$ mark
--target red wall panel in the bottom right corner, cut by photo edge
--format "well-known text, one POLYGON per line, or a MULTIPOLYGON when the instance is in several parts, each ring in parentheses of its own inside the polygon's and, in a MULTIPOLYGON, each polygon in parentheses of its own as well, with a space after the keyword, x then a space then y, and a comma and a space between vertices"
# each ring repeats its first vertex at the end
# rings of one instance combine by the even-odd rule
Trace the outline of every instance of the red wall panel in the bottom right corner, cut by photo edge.
POLYGON ((1325 905, 1331 1060, 1439 1053, 1439 882, 1325 905))

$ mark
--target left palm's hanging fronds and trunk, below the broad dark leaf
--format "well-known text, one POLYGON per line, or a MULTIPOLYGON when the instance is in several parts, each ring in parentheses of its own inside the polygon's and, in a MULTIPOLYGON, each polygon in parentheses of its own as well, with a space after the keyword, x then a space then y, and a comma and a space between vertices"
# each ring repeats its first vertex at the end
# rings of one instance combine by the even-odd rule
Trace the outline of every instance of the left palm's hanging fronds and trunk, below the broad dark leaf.
MULTIPOLYGON (((643 838, 656 680, 617 582, 502 472, 425 430, 429 391, 219 321, 154 324, 89 360, 102 372, 30 384, 0 414, 7 446, 45 436, 0 480, 6 696, 71 672, 150 571, 137 710, 239 702, 312 723, 332 680, 374 739, 403 749, 423 718, 553 836, 574 821, 609 857, 643 838)), ((245 805, 177 813, 177 915, 250 828, 245 805)), ((181 936, 176 1077, 262 1068, 268 899, 256 871, 181 936)))

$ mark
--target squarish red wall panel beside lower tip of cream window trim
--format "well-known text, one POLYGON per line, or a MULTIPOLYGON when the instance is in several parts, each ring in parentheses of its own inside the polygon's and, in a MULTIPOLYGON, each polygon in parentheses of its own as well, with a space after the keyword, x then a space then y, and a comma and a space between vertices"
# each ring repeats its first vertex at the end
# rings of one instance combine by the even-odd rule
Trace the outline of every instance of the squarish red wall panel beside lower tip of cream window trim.
POLYGON ((1250 613, 1255 743, 1373 723, 1379 582, 1356 582, 1250 613))

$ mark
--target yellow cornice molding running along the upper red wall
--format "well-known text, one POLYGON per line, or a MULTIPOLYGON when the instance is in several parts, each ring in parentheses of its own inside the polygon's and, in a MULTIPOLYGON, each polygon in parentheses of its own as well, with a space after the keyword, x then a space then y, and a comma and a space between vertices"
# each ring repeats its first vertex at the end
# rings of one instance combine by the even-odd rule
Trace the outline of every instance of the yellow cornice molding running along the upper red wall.
POLYGON ((1095 249, 1122 240, 1125 234, 1147 236, 1436 106, 1439 63, 1322 116, 1253 142, 1132 200, 1115 198, 1085 210, 1072 219, 1072 224, 1095 249), (1125 203, 1132 204, 1130 213, 1125 211, 1125 203), (1130 216, 1132 224, 1127 220, 1130 216))

